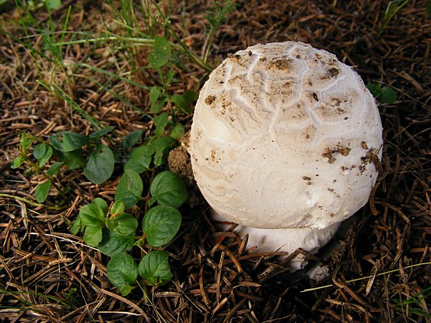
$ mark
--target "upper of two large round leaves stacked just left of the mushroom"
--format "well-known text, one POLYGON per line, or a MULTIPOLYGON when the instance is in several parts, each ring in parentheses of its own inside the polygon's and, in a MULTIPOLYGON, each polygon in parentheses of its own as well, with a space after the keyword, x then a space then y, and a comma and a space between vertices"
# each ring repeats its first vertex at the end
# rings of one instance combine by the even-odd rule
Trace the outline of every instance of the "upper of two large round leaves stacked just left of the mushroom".
POLYGON ((188 198, 184 181, 170 171, 161 172, 154 177, 150 192, 159 205, 179 208, 188 198))

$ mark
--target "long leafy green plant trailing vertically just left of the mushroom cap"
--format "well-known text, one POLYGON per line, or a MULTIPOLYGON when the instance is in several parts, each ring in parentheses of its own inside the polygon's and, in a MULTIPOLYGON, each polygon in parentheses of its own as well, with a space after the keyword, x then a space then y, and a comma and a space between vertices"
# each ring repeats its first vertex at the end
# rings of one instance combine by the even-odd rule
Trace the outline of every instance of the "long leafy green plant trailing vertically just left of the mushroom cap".
POLYGON ((149 198, 142 197, 144 185, 140 174, 154 173, 152 167, 166 163, 169 151, 184 135, 184 128, 175 124, 175 117, 179 113, 190 113, 190 103, 197 99, 195 92, 170 95, 168 88, 174 79, 174 69, 169 67, 171 54, 170 43, 165 38, 156 37, 154 49, 149 52, 149 67, 158 72, 161 80, 161 87, 154 85, 149 90, 150 109, 156 115, 152 120, 154 134, 139 147, 135 145, 142 138, 143 131, 133 131, 122 141, 128 155, 124 158, 124 174, 115 190, 115 203, 108 208, 103 199, 93 200, 81 208, 71 229, 74 234, 81 230, 88 245, 112 257, 106 274, 111 283, 120 288, 122 295, 129 294, 138 285, 138 276, 143 279, 144 286, 167 283, 172 278, 166 251, 150 251, 142 257, 139 265, 127 254, 133 245, 147 243, 152 248, 168 245, 181 224, 181 213, 177 208, 188 197, 184 182, 170 171, 158 173, 150 185, 149 198), (163 111, 167 105, 170 113, 163 111), (124 210, 143 200, 145 209, 152 208, 145 212, 141 222, 143 235, 136 235, 138 220, 124 210), (153 206, 155 203, 157 206, 153 206))

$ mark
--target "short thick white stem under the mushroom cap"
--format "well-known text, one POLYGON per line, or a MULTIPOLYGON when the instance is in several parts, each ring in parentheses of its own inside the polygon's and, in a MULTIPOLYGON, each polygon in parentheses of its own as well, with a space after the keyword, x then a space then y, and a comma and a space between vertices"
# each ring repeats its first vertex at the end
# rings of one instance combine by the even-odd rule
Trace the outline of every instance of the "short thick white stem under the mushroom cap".
MULTIPOLYGON (((225 217, 211 209, 214 220, 219 222, 229 222, 225 217)), ((259 229, 251 226, 238 225, 234 230, 241 238, 248 234, 248 247, 256 246, 256 251, 282 251, 288 255, 293 254, 297 249, 307 251, 309 254, 316 252, 327 244, 338 231, 341 223, 337 222, 325 229, 259 229)), ((220 229, 228 229, 229 225, 220 224, 220 229)), ((287 255, 287 256, 288 256, 287 255)), ((307 265, 307 259, 302 254, 298 254, 289 263, 291 271, 301 270, 307 265)))

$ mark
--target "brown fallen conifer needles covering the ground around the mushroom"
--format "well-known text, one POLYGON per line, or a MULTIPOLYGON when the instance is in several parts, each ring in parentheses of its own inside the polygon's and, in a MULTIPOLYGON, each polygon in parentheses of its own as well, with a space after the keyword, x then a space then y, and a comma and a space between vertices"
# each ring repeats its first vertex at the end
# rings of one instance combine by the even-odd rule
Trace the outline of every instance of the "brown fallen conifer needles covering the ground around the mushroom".
MULTIPOLYGON (((53 13, 61 24, 67 5, 53 13)), ((205 10, 212 1, 172 1, 172 26, 198 55, 204 44, 205 10), (190 2, 190 3, 189 3, 190 2), (193 4, 192 4, 193 2, 193 4), (181 36, 182 37, 182 36, 181 36)), ((0 320, 5 322, 430 322, 431 306, 431 17, 429 1, 408 3, 380 30, 389 1, 240 1, 215 34, 210 60, 217 65, 239 49, 259 42, 300 40, 326 49, 352 65, 365 83, 398 92, 379 104, 384 126, 383 173, 370 203, 359 211, 327 264, 330 277, 314 282, 289 274, 277 254, 247 250, 234 233, 218 232, 204 203, 184 206, 183 224, 167 248, 172 283, 121 297, 106 278, 107 257, 83 245, 68 224, 94 197, 113 201, 117 179, 89 183, 81 172, 64 172, 70 199, 39 205, 34 189, 42 179, 24 167, 10 169, 18 154, 19 132, 38 138, 72 130, 88 134, 91 124, 37 81, 63 83, 64 73, 46 60, 33 60, 17 38, 19 15, 0 16, 0 320), (2 31, 8 31, 4 33, 2 31), (39 63, 39 66, 35 64, 39 63), (38 72, 38 70, 42 72, 38 72), (324 288, 319 288, 324 286, 324 288), (310 291, 303 292, 306 289, 310 291), (415 301, 416 299, 416 301, 415 301), (407 305, 408 304, 408 305, 407 305)), ((68 30, 97 33, 112 23, 103 1, 73 3, 68 30), (79 28, 79 29, 77 29, 79 28)), ((42 10, 34 13, 48 22, 42 10)), ((33 31, 32 47, 44 51, 33 31)), ((24 38, 22 38, 24 39, 24 38)), ((132 69, 119 47, 74 44, 63 56, 72 62, 124 73, 132 69)), ((135 67, 147 65, 147 47, 138 47, 135 67)), ((153 85, 145 69, 135 81, 153 85)), ((178 69, 181 86, 199 88, 205 72, 178 69)), ((148 111, 148 95, 86 67, 74 72, 65 91, 95 119, 115 127, 120 140, 134 129, 154 130, 149 119, 93 81, 108 84, 148 111), (91 75, 92 77, 88 77, 91 75)), ((182 120, 190 127, 190 116, 182 120)), ((136 210, 136 212, 139 212, 136 210)), ((318 255, 319 256, 319 255, 318 255)), ((320 261, 311 257, 311 262, 320 261)))

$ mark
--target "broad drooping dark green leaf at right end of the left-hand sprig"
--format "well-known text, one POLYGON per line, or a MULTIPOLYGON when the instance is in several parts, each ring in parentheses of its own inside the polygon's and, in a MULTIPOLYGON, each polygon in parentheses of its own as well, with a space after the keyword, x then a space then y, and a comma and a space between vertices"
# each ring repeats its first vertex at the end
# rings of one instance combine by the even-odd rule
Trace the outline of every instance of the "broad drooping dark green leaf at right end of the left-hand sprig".
POLYGON ((108 181, 113 174, 114 164, 115 158, 111 149, 105 144, 99 144, 90 154, 84 174, 92 183, 101 184, 108 181))

